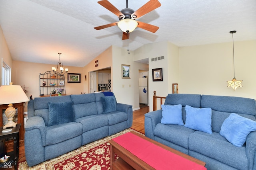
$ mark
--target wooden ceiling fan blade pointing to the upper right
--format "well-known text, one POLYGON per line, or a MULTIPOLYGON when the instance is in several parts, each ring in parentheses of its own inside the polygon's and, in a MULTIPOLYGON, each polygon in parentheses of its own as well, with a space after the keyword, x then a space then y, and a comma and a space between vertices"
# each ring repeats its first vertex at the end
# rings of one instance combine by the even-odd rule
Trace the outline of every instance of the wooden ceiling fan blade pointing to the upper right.
POLYGON ((136 15, 137 18, 139 18, 160 6, 161 4, 158 0, 150 0, 146 4, 144 4, 142 7, 140 7, 137 11, 135 11, 131 16, 136 15))

